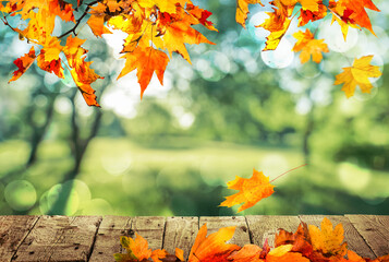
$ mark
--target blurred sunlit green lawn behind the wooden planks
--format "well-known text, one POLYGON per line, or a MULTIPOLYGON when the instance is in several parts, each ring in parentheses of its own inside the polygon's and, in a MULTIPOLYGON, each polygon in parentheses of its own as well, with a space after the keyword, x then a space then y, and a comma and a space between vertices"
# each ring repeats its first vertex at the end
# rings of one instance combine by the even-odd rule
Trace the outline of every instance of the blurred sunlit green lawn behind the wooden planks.
MULTIPOLYGON (((7 156, 0 158, 2 177, 25 163, 28 145, 21 141, 1 143, 0 155, 7 156)), ((12 180, 29 181, 38 200, 29 213, 40 214, 54 202, 60 187, 56 184, 72 163, 65 143, 45 141, 37 164, 21 169, 0 184, 0 190, 12 180)), ((297 148, 185 138, 163 138, 150 146, 126 139, 97 138, 86 152, 66 214, 232 215, 239 206, 218 207, 222 196, 234 193, 226 189, 227 181, 235 176, 248 178, 253 168, 272 179, 303 163, 297 148)), ((344 163, 313 163, 276 180, 276 193, 242 214, 385 214, 389 212, 388 183, 388 172, 344 163)), ((0 204, 1 213, 12 212, 4 198, 0 198, 0 204)))

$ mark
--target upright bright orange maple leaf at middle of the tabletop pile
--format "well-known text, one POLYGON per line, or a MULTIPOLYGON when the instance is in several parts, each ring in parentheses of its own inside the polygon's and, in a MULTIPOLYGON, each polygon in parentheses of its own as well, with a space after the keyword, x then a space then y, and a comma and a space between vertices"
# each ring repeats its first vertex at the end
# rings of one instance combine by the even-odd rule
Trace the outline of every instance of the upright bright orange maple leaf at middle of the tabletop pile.
POLYGON ((223 227, 207 237, 207 224, 204 224, 192 246, 189 262, 226 262, 232 251, 240 249, 236 245, 226 243, 234 231, 235 227, 223 227))

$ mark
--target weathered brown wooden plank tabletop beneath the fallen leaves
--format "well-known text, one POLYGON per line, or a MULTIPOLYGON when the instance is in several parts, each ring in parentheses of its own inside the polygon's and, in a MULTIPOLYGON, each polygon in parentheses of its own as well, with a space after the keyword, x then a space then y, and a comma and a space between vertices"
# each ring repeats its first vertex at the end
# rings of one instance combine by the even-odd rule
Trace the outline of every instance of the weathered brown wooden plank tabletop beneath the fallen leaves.
MULTIPOLYGON (((389 253, 389 216, 327 216, 342 223, 351 250, 374 259, 389 253)), ((114 261, 122 252, 120 236, 139 234, 153 249, 187 255, 199 226, 208 234, 236 226, 232 242, 262 246, 273 242, 278 228, 295 231, 300 222, 319 226, 324 216, 127 217, 127 216, 0 216, 0 261, 114 261)))

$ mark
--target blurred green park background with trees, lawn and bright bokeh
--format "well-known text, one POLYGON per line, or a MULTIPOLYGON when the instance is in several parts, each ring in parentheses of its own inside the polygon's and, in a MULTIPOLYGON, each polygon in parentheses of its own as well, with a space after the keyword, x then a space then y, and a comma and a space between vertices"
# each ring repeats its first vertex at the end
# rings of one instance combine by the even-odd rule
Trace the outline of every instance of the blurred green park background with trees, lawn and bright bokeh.
MULTIPOLYGON (((116 80, 125 36, 82 28, 106 76, 93 85, 101 109, 69 71, 59 80, 33 64, 8 84, 31 47, 0 24, 0 214, 233 215, 239 206, 218 207, 235 193, 227 181, 305 163, 240 214, 389 214, 389 5, 368 12, 377 37, 350 28, 344 41, 330 17, 309 23, 330 52, 302 66, 296 21, 276 51, 260 51, 268 33, 254 26, 269 4, 252 8, 243 29, 234 0, 194 3, 214 13, 219 33, 198 29, 217 45, 189 46, 192 66, 173 55, 165 85, 154 78, 142 102, 135 72, 116 80), (384 74, 348 99, 335 75, 366 55, 384 74)), ((54 35, 66 26, 58 21, 54 35)))

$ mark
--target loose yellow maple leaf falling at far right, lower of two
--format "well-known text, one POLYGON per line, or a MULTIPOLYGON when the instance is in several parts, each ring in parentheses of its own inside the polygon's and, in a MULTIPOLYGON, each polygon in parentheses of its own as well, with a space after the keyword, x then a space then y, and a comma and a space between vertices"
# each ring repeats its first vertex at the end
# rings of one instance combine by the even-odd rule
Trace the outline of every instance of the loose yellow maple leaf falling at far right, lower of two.
POLYGON ((370 93, 373 85, 369 78, 379 78, 382 73, 378 66, 372 66, 373 56, 355 59, 352 67, 343 68, 343 72, 336 76, 335 85, 343 84, 347 97, 354 95, 358 85, 362 93, 370 93))

